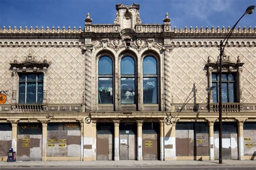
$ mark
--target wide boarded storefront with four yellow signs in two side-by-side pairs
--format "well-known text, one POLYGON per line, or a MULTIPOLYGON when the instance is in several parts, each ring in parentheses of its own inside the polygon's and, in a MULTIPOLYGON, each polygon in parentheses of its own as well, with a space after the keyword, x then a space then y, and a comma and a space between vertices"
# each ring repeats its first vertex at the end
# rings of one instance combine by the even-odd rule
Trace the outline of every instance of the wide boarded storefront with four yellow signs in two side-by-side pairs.
POLYGON ((80 157, 79 123, 49 123, 47 126, 47 157, 80 157))

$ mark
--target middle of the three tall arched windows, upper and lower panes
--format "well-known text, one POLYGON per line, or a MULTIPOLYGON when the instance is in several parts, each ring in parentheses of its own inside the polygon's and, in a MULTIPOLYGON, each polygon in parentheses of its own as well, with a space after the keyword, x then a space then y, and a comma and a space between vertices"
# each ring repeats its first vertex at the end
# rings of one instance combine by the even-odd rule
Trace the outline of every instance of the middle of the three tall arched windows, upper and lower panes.
POLYGON ((135 103, 135 62, 126 56, 121 60, 121 103, 135 103))

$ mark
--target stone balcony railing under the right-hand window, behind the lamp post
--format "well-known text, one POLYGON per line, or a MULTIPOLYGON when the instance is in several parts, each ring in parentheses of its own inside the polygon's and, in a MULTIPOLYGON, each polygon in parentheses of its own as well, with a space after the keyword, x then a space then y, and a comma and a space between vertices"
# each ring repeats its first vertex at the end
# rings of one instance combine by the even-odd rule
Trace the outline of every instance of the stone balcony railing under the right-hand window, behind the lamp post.
MULTIPOLYGON (((223 112, 240 112, 242 110, 242 104, 240 103, 224 103, 223 112)), ((211 103, 210 110, 212 112, 219 112, 219 104, 211 103)))

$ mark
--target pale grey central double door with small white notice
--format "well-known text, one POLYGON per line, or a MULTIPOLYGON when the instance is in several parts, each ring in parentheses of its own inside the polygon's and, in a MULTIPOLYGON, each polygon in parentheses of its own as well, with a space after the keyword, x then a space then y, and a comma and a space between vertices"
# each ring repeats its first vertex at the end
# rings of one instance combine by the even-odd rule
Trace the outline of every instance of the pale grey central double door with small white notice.
POLYGON ((120 160, 135 160, 137 157, 137 135, 120 134, 120 160))

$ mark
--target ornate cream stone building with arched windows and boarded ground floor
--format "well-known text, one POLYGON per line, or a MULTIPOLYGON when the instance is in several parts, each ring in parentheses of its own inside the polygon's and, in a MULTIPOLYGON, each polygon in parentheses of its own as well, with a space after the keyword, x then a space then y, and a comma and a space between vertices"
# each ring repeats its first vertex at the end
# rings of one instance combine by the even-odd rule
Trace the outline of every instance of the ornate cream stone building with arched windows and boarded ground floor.
MULTIPOLYGON (((17 160, 218 159, 219 43, 230 28, 114 24, 0 29, 0 157, 17 160), (207 87, 215 87, 206 91, 207 87)), ((255 159, 256 28, 225 48, 223 157, 255 159)))

